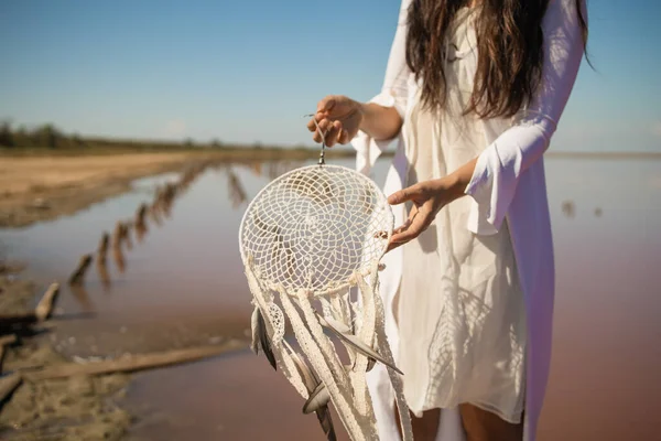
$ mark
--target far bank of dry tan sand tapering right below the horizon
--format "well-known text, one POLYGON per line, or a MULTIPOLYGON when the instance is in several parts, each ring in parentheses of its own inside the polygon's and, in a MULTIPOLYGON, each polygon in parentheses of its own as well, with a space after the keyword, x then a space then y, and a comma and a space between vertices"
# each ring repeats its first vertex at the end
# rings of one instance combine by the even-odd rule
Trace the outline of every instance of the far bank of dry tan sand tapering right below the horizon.
MULTIPOLYGON (((72 215, 131 190, 141 178, 180 172, 199 164, 305 160, 315 150, 139 151, 98 150, 79 154, 43 150, 2 154, 0 161, 0 228, 21 228, 72 215)), ((332 157, 353 154, 334 151, 332 157)))

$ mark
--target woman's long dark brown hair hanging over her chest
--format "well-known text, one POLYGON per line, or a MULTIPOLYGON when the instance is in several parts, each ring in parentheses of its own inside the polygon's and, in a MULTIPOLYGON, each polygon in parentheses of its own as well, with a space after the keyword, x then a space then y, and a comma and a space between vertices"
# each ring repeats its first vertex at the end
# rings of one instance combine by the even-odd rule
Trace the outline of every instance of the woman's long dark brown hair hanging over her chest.
MULTIPOLYGON (((475 21, 477 72, 466 114, 507 118, 530 101, 542 77, 542 19, 549 1, 481 0, 475 21)), ((416 79, 422 79, 422 103, 427 109, 445 105, 444 39, 457 12, 468 2, 413 0, 409 7, 407 63, 416 79)), ((582 3, 576 0, 585 45, 587 23, 582 3)))

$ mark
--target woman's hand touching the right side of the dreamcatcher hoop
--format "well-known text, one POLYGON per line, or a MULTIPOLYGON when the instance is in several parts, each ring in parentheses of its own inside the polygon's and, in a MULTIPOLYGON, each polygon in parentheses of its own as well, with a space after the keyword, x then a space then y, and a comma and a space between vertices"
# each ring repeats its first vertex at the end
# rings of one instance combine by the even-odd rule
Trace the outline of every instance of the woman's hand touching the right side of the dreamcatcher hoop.
POLYGON ((391 194, 388 197, 390 205, 411 201, 413 207, 404 225, 394 229, 387 251, 420 236, 429 228, 441 208, 464 195, 465 187, 465 183, 463 184, 457 175, 448 175, 424 181, 391 194))

